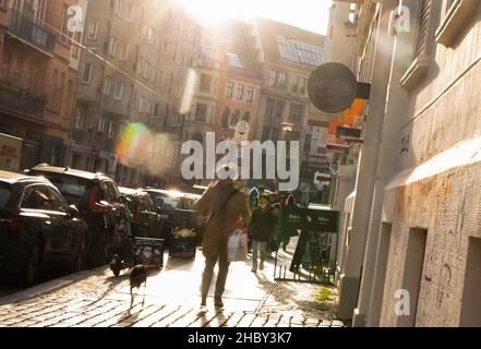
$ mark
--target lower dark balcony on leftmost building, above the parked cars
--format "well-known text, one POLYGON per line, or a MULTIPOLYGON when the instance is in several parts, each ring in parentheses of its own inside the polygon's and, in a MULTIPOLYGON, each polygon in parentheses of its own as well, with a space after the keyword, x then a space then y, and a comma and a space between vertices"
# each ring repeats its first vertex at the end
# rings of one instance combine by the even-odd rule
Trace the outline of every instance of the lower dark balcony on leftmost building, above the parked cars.
POLYGON ((27 89, 0 80, 0 108, 43 119, 46 105, 46 95, 34 95, 27 89))

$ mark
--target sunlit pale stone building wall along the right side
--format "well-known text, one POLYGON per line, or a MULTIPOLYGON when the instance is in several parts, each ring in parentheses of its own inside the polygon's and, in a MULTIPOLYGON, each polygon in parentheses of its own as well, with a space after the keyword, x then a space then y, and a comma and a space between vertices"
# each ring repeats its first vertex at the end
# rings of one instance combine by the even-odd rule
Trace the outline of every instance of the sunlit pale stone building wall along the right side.
POLYGON ((354 326, 480 326, 479 1, 364 1, 361 19, 372 93, 339 310, 354 326))

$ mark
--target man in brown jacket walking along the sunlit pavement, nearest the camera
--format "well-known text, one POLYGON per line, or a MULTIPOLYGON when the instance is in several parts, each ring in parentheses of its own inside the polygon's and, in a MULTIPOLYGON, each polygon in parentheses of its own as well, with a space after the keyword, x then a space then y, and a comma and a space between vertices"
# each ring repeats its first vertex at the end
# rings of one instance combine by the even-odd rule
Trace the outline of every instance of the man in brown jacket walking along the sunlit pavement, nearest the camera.
POLYGON ((202 197, 194 203, 193 208, 206 217, 202 242, 205 268, 202 275, 201 305, 206 305, 214 267, 218 262, 214 305, 223 308, 223 294, 230 266, 227 258, 227 243, 229 234, 236 227, 239 225, 246 227, 249 224, 248 197, 237 181, 219 180, 208 186, 202 197))

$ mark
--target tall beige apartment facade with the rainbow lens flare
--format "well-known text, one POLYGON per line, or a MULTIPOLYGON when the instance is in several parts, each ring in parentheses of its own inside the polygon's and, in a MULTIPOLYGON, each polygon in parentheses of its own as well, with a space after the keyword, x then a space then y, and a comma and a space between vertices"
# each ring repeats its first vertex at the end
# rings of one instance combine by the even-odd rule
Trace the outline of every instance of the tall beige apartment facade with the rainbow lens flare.
POLYGON ((72 124, 74 168, 103 171, 123 184, 157 180, 161 10, 157 0, 88 7, 72 124))

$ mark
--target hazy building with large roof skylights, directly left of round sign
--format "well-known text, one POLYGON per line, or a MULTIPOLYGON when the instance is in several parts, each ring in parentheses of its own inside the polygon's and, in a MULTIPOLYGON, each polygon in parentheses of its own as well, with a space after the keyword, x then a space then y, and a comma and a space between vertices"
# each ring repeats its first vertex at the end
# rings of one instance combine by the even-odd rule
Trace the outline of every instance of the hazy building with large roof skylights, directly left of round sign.
POLYGON ((325 61, 325 37, 265 19, 254 21, 252 36, 264 81, 255 137, 300 142, 299 191, 308 202, 315 173, 328 169, 325 147, 315 146, 313 135, 317 135, 318 143, 318 129, 325 128, 329 119, 316 116, 308 96, 308 79, 325 61), (316 123, 311 123, 313 120, 316 123))

